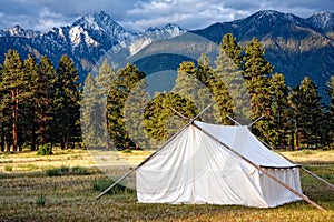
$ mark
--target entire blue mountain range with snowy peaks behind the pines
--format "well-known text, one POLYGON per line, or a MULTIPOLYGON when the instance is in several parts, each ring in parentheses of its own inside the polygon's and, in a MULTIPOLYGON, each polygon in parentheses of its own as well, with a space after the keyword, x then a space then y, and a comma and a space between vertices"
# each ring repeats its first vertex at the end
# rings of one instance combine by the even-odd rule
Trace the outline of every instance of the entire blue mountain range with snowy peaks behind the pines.
POLYGON ((87 14, 71 26, 48 32, 27 30, 19 26, 0 30, 0 62, 8 49, 16 49, 22 58, 46 54, 55 64, 62 54, 76 63, 80 81, 94 64, 110 49, 120 47, 134 54, 155 41, 178 37, 185 32, 202 36, 219 44, 226 33, 233 33, 240 46, 253 37, 263 43, 266 59, 275 72, 285 74, 293 87, 310 77, 324 95, 325 82, 334 67, 334 13, 317 12, 310 18, 273 10, 256 12, 245 19, 214 23, 202 30, 185 30, 177 24, 131 32, 104 11, 87 14))

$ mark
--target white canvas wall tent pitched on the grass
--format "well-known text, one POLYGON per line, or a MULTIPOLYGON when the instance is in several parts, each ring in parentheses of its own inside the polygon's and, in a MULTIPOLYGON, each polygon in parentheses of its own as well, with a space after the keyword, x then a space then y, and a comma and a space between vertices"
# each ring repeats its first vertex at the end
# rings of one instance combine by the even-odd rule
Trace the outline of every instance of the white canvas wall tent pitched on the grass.
POLYGON ((137 198, 274 208, 302 200, 298 167, 269 151, 247 127, 195 121, 137 169, 137 198))

